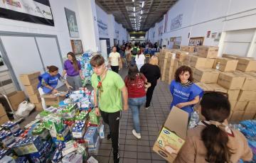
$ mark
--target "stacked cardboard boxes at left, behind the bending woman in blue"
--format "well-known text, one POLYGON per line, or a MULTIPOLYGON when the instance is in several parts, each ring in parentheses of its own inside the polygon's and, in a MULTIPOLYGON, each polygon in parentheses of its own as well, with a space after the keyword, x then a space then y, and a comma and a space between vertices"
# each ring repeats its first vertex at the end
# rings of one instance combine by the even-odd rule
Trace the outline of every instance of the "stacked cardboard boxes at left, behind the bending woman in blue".
POLYGON ((36 106, 36 111, 43 111, 41 97, 38 92, 38 76, 40 72, 33 72, 31 74, 21 74, 20 81, 25 87, 26 94, 28 95, 29 101, 34 103, 36 106))

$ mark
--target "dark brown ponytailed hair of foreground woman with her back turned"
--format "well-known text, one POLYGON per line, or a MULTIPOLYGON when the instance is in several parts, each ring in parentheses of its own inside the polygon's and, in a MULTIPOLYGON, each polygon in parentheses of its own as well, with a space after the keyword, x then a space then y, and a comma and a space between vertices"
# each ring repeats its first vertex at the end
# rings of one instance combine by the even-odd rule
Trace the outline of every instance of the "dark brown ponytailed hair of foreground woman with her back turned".
MULTIPOLYGON (((203 95, 201 112, 206 120, 223 123, 230 115, 228 97, 219 92, 210 92, 203 95)), ((228 134, 216 125, 207 125, 201 133, 203 144, 206 146, 206 162, 230 162, 232 149, 228 147, 228 134)))

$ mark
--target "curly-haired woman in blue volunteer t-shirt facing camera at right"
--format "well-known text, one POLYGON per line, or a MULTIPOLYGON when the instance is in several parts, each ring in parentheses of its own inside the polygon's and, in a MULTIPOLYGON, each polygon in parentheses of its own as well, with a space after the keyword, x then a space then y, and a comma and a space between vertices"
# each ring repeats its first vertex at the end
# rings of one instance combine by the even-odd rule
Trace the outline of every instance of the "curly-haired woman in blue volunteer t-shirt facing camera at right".
POLYGON ((192 70, 188 66, 181 66, 176 69, 175 79, 170 84, 173 101, 170 108, 176 106, 188 112, 189 118, 193 112, 193 106, 203 96, 203 90, 193 83, 192 70))

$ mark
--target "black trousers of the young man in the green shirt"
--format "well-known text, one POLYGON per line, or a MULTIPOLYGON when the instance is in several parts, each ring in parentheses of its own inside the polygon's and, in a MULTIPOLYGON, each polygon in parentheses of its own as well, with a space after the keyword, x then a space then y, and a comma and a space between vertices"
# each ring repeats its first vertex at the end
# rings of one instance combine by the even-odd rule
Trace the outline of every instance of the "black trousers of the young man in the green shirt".
POLYGON ((107 113, 104 111, 100 111, 102 119, 107 125, 110 127, 110 135, 112 141, 113 153, 118 152, 118 138, 119 138, 119 122, 121 118, 121 111, 117 111, 114 113, 107 113))

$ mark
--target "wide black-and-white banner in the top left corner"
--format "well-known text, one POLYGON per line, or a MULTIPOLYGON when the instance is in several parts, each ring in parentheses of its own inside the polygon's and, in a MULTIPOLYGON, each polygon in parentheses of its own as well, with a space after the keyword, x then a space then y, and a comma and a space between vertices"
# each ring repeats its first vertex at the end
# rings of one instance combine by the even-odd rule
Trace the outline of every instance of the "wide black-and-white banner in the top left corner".
POLYGON ((0 17, 54 26, 49 0, 1 0, 0 17))

